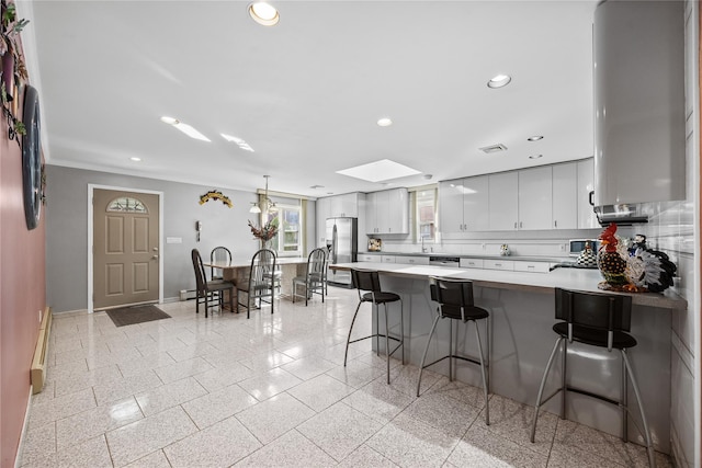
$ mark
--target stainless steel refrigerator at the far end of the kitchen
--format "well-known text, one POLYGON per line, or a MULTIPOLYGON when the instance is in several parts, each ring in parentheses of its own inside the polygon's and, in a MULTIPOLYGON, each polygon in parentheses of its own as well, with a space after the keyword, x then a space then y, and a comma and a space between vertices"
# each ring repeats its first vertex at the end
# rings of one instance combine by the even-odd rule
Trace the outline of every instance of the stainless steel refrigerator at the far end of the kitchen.
MULTIPOLYGON (((328 218, 326 236, 330 264, 355 262, 359 251, 356 218, 328 218)), ((329 269, 327 283, 351 287, 351 273, 329 269)))

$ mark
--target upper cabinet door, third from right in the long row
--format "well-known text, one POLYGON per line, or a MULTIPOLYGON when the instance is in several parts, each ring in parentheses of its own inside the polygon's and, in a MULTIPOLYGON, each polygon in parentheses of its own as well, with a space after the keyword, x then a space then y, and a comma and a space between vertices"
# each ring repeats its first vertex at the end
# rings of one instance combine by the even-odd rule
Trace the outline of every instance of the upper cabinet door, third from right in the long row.
POLYGON ((552 167, 523 169, 519 174, 519 229, 553 227, 552 167))

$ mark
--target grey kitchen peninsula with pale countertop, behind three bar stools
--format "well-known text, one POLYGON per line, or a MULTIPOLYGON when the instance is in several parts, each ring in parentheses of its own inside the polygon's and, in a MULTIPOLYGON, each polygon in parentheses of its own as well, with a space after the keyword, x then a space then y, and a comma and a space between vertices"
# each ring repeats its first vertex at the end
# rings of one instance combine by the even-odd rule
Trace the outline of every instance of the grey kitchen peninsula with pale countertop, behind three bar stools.
MULTIPOLYGON (((532 406, 546 359, 556 339, 552 327, 554 319, 554 288, 600 292, 601 281, 597 270, 558 269, 547 274, 471 270, 431 265, 406 265, 376 262, 358 262, 330 265, 330 269, 351 267, 377 270, 384 290, 401 296, 405 313, 406 358, 419 365, 427 344, 435 304, 429 293, 428 277, 446 276, 473 281, 475 304, 490 312, 490 392, 532 406)), ((672 292, 666 294, 632 294, 632 334, 638 345, 632 349, 630 358, 637 375, 642 398, 656 449, 668 453, 670 440, 670 326, 671 311, 684 309, 687 301, 672 292)), ((393 326, 390 326, 392 328, 393 326)), ((395 328, 398 324, 394 326, 395 328)), ((392 332, 399 330, 390 329, 392 332)), ((477 355, 473 330, 458 327, 458 353, 477 355)), ((445 354, 449 326, 440 323, 432 339, 428 362, 445 354)), ((380 344, 384 351, 383 343, 380 344)), ((578 387, 618 398, 620 385, 619 354, 600 352, 577 343, 568 345, 570 353, 568 379, 578 387), (587 354, 586 354, 587 353, 587 354), (580 356, 587 355, 587 358, 580 356), (592 358, 593 355, 596 358, 592 358), (611 374, 603 377, 603 374, 611 374)), ((555 365, 559 369, 558 364, 555 365)), ((430 368, 448 375, 445 362, 430 368), (443 367, 442 367, 443 366, 443 367)), ((479 373, 473 366, 460 364, 456 377, 479 387, 479 373)), ((547 388, 558 384, 559 373, 552 372, 547 388)), ((634 401, 629 388, 630 402, 634 401)), ((577 393, 568 395, 567 418, 613 435, 620 435, 621 412, 615 407, 577 393)), ((559 397, 546 404, 557 413, 559 397)), ((630 416, 630 418, 636 418, 630 416)), ((638 423, 638 422, 637 422, 638 423)), ((634 424, 629 426, 631 441, 641 435, 634 424)), ((641 442, 639 442, 641 443, 641 442)))

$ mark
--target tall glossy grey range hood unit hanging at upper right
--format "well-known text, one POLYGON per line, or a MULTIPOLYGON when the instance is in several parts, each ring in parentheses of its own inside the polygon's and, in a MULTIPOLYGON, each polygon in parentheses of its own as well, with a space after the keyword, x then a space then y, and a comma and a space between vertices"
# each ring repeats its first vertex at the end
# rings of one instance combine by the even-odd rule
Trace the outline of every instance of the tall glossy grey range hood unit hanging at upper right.
POLYGON ((683 3, 595 10, 590 203, 603 226, 647 222, 653 203, 686 198, 683 3))

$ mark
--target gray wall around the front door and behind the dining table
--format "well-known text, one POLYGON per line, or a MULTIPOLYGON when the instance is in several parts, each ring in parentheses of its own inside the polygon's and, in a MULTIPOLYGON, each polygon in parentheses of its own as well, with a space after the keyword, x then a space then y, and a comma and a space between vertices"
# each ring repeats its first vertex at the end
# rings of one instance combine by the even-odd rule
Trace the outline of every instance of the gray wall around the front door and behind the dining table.
MULTIPOLYGON (((237 256, 250 256, 259 249, 247 226, 248 219, 257 221, 258 215, 249 213, 250 203, 258 198, 254 193, 48 164, 46 172, 46 300, 55 312, 88 308, 88 184, 163 193, 165 300, 178 298, 180 289, 194 288, 193 248, 203 259, 216 246, 227 247, 237 256), (200 196, 211 190, 228 196, 234 207, 218 201, 200 205, 200 196), (195 220, 203 222, 200 242, 195 220), (167 237, 182 238, 182 243, 166 243, 167 237)), ((310 217, 305 235, 314 240, 314 210, 310 217)))

